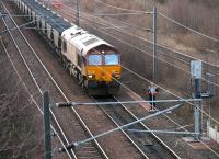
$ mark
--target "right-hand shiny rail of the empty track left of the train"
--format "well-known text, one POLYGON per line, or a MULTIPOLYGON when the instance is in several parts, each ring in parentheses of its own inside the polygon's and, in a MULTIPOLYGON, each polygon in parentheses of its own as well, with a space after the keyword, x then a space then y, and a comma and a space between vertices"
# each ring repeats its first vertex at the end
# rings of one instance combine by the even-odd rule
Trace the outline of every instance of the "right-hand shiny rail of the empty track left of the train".
MULTIPOLYGON (((2 3, 2 2, 1 2, 2 3)), ((3 4, 3 3, 2 3, 3 4)), ((4 5, 4 4, 3 4, 4 5)), ((5 5, 4 5, 5 8, 5 5)), ((5 8, 7 10, 7 8, 5 8)), ((9 11, 7 10, 7 12, 9 13, 9 11)), ((10 13, 9 13, 10 16, 10 13)), ((38 60, 38 63, 41 64, 41 66, 43 67, 43 69, 46 71, 46 73, 49 76, 50 80, 53 81, 53 83, 55 84, 55 87, 58 89, 59 93, 61 94, 61 96, 69 102, 68 98, 66 96, 66 94, 64 93, 64 91, 60 89, 60 87, 57 84, 57 82, 55 81, 55 79, 53 78, 53 76, 49 73, 49 71, 47 70, 47 68, 45 67, 45 65, 43 64, 43 61, 39 59, 39 57, 37 56, 37 54, 35 53, 35 50, 33 49, 33 47, 30 45, 30 43, 27 42, 26 37, 23 35, 23 33, 21 32, 21 30, 19 29, 19 26, 16 25, 15 21, 13 20, 12 16, 10 16, 10 19, 13 21, 13 23, 15 24, 15 26, 18 27, 18 31, 20 32, 20 34, 22 35, 22 37, 24 38, 24 41, 26 42, 26 44, 28 45, 28 47, 31 48, 32 53, 34 54, 34 56, 36 57, 36 59, 38 60)), ((32 78, 35 80, 35 78, 32 76, 32 78)), ((37 87, 38 88, 38 87, 37 87)), ((41 90, 41 89, 39 89, 41 90)), ((85 125, 85 123, 83 122, 83 120, 80 117, 80 115, 78 114, 78 112, 71 107, 71 110, 73 111, 74 115, 78 117, 79 122, 82 124, 82 126, 85 128, 85 130, 89 133, 90 136, 93 136, 91 130, 88 128, 88 126, 85 125)), ((54 116, 54 115, 53 115, 54 116)), ((61 129, 62 132, 62 129, 61 129)), ((67 141, 67 140, 66 140, 67 141)), ((69 144, 69 141, 67 141, 69 144)), ((104 158, 108 158, 107 155, 105 154, 105 151, 103 150, 103 148, 100 146, 100 144, 97 143, 97 140, 94 140, 95 145, 97 146, 99 150, 102 152, 104 158)), ((76 154, 72 151, 73 156, 76 157, 76 154)), ((76 157, 77 158, 77 157, 76 157)))

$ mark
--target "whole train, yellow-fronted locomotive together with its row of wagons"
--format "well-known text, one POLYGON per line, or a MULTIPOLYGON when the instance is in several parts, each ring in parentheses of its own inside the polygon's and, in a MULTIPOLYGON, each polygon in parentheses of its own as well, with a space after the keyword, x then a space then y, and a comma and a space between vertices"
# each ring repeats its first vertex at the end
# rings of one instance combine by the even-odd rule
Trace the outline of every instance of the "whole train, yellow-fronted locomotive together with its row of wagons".
POLYGON ((108 95, 119 91, 122 54, 114 46, 36 0, 14 2, 89 95, 108 95))

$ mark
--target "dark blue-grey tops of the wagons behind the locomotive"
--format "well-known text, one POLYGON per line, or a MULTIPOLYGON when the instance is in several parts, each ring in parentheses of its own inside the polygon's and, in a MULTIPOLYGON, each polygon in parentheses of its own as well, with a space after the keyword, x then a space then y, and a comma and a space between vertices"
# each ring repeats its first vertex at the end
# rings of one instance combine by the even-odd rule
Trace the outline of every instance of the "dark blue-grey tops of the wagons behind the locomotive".
POLYGON ((51 10, 46 9, 35 0, 23 0, 23 2, 28 5, 36 14, 44 16, 45 20, 51 27, 54 27, 59 33, 62 33, 66 29, 69 29, 71 24, 65 21, 62 18, 55 14, 51 10))

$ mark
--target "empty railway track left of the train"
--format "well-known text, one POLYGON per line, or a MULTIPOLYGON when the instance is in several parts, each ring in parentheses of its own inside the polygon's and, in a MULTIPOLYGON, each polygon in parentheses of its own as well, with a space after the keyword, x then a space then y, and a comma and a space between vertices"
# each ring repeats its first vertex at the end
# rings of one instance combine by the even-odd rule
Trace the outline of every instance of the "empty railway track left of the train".
MULTIPOLYGON (((34 52, 33 47, 28 44, 21 30, 18 27, 18 24, 10 15, 3 1, 1 1, 1 5, 4 8, 4 12, 8 13, 7 16, 4 16, 2 20, 12 39, 11 42, 9 42, 10 47, 7 48, 8 53, 10 53, 12 60, 20 63, 20 65, 15 67, 19 70, 22 70, 21 73, 23 75, 22 78, 24 82, 27 83, 27 86, 31 86, 28 89, 30 92, 34 92, 33 99, 35 99, 36 103, 41 105, 42 93, 44 90, 48 89, 54 102, 68 101, 68 98, 62 92, 61 88, 56 83, 55 79, 51 77, 37 54, 34 52), (10 31, 12 27, 15 27, 16 30, 10 31), (18 50, 19 54, 14 54, 14 50, 18 50), (26 73, 26 71, 28 73, 26 73)), ((92 133, 73 107, 71 107, 71 112, 69 112, 69 109, 51 109, 50 112, 57 125, 56 127, 59 127, 58 133, 61 134, 64 144, 67 145, 69 144, 69 140, 74 140, 76 138, 84 139, 88 136, 92 136, 92 133), (64 114, 66 114, 65 117, 68 116, 69 122, 64 120, 64 117, 61 118, 64 114), (56 116, 59 116, 59 118, 56 116), (72 128, 74 132, 68 130, 67 133, 67 129, 69 128, 72 128), (74 134, 76 138, 72 138, 71 134, 74 134)), ((69 152, 71 154, 71 158, 108 158, 96 140, 88 143, 84 147, 80 148, 80 150, 71 150, 69 152)))

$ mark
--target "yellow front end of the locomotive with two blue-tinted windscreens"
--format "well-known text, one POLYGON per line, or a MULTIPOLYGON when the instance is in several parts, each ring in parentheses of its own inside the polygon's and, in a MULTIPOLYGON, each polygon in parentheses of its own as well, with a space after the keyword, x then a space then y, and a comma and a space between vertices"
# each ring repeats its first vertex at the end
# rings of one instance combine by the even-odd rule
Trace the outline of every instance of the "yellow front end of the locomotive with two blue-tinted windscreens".
POLYGON ((120 53, 101 45, 87 54, 87 88, 90 94, 115 94, 119 90, 120 53), (96 93, 95 93, 96 92, 96 93))

